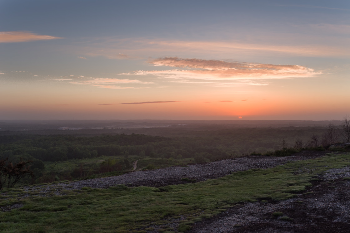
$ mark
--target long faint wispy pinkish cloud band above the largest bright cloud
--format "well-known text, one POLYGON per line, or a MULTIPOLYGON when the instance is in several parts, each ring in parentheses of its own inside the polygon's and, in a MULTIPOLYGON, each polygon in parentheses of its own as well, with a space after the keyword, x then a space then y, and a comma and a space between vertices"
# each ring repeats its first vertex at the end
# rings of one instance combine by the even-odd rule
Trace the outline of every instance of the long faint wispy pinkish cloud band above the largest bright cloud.
MULTIPOLYGON (((346 28, 346 27, 344 27, 346 28)), ((339 29, 343 30, 343 29, 339 29)), ((83 54, 84 57, 105 57, 108 59, 144 59, 149 56, 187 56, 184 54, 195 54, 195 56, 205 56, 211 54, 215 57, 228 57, 232 54, 249 54, 250 56, 307 56, 307 57, 348 57, 350 48, 346 42, 335 43, 335 38, 331 38, 332 43, 317 43, 318 37, 310 39, 309 42, 298 41, 298 35, 291 39, 290 35, 280 33, 267 36, 264 40, 257 42, 246 42, 239 40, 230 41, 184 41, 169 39, 148 39, 148 38, 94 38, 86 41, 84 46, 79 48, 70 48, 77 54, 83 54), (280 38, 281 44, 271 43, 280 38), (289 41, 289 42, 288 42, 289 41), (182 55, 181 55, 182 54, 182 55)), ((79 55, 80 56, 80 55, 79 55)))

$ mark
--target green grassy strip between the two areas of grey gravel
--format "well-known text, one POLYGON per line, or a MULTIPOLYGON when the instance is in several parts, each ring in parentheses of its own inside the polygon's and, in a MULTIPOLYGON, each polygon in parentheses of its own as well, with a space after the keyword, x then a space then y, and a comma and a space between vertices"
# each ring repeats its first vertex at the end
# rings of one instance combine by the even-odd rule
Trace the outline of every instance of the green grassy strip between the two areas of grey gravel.
MULTIPOLYGON (((22 203, 20 209, 0 213, 0 231, 7 232, 137 232, 184 217, 179 230, 193 221, 217 214, 238 202, 284 199, 311 185, 317 173, 350 163, 350 154, 289 162, 270 169, 252 169, 220 179, 161 188, 127 188, 65 191, 46 197, 21 189, 2 193, 0 206, 22 203)), ((171 230, 171 229, 168 229, 171 230)), ((143 231, 144 232, 144 231, 143 231)))

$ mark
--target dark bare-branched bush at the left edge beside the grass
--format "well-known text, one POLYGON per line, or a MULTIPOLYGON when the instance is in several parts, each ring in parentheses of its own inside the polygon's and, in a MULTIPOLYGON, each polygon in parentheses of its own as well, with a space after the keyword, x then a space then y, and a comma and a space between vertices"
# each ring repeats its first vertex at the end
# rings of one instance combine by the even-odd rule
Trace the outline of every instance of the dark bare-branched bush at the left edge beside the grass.
POLYGON ((34 174, 29 170, 28 163, 33 161, 28 160, 27 162, 20 161, 18 163, 12 163, 8 161, 8 158, 0 158, 0 190, 7 186, 7 188, 13 188, 15 184, 25 176, 31 176, 34 178, 34 174))

